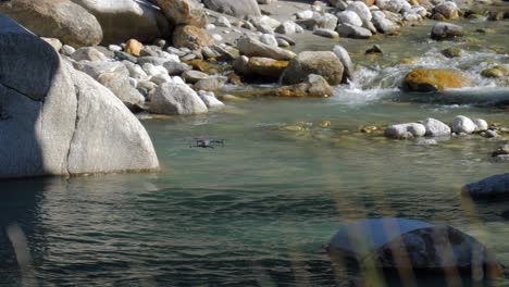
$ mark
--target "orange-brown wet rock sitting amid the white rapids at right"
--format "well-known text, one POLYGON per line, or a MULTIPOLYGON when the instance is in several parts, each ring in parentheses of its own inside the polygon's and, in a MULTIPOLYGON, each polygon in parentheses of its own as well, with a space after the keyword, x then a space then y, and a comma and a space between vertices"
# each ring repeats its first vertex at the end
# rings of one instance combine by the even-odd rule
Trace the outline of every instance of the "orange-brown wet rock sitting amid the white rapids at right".
POLYGON ((422 92, 468 86, 471 86, 470 79, 452 70, 413 70, 405 76, 402 83, 404 90, 422 92))

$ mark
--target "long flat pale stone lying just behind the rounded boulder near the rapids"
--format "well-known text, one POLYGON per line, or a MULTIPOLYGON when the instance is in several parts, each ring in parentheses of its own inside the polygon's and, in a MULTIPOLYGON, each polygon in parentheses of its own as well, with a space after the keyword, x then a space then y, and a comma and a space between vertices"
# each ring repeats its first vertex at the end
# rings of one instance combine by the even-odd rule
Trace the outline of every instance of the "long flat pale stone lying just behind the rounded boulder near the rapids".
POLYGON ((271 47, 249 37, 238 39, 237 48, 247 57, 263 57, 282 61, 289 61, 296 57, 291 51, 278 47, 271 47))

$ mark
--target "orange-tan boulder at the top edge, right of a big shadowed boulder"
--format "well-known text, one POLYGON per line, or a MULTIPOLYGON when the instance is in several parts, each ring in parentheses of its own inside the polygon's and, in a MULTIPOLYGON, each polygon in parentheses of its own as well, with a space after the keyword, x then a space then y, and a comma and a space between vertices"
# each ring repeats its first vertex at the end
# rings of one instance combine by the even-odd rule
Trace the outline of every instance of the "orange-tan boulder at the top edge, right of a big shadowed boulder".
POLYGON ((207 14, 196 0, 156 0, 162 12, 175 25, 204 27, 207 14))

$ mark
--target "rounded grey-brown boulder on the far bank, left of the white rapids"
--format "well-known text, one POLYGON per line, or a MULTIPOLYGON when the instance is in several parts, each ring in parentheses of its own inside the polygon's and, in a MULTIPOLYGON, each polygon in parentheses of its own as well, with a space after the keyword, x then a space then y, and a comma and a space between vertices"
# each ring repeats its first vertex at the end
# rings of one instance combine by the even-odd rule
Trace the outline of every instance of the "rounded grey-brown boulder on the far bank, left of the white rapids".
POLYGON ((331 51, 307 51, 293 59, 282 75, 283 85, 298 84, 308 75, 323 76, 330 85, 338 85, 343 80, 343 64, 331 51))

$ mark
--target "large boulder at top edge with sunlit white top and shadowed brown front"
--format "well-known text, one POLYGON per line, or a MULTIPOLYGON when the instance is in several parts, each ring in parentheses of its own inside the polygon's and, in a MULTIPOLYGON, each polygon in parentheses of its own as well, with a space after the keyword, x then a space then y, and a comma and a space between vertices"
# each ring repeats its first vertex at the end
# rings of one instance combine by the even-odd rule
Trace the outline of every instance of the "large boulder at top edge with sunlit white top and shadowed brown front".
POLYGON ((151 42, 169 36, 167 18, 147 0, 72 0, 92 13, 102 27, 102 45, 125 42, 135 38, 151 42))

